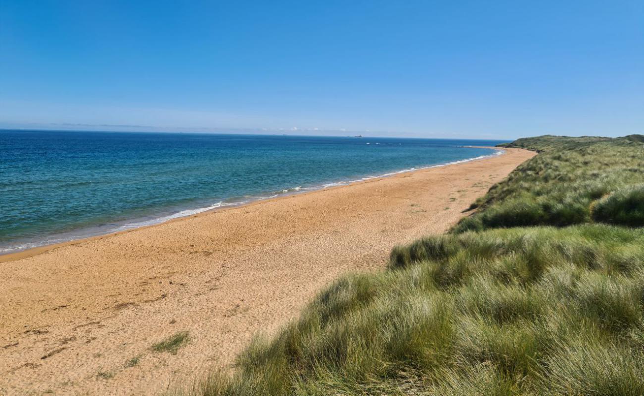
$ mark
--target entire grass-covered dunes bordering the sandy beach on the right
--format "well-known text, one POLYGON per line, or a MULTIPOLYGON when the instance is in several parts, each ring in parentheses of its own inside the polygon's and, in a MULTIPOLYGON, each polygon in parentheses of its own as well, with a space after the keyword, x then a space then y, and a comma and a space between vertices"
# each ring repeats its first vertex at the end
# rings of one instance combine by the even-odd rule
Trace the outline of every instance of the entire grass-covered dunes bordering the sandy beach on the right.
POLYGON ((507 146, 540 155, 194 393, 644 395, 641 137, 507 146))

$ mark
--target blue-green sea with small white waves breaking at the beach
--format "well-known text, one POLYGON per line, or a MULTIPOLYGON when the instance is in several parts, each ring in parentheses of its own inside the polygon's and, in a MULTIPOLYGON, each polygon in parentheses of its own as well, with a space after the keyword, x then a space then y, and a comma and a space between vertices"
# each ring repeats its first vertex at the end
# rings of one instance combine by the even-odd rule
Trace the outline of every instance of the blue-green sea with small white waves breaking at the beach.
POLYGON ((0 131, 0 254, 450 164, 495 140, 0 131))

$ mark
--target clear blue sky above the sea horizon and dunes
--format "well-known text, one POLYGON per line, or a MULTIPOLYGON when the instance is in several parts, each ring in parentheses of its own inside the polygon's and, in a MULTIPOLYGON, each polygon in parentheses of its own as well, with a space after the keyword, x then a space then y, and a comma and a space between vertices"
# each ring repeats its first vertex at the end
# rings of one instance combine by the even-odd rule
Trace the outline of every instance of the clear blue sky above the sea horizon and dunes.
POLYGON ((0 52, 0 127, 644 133, 642 0, 1 0, 0 52))

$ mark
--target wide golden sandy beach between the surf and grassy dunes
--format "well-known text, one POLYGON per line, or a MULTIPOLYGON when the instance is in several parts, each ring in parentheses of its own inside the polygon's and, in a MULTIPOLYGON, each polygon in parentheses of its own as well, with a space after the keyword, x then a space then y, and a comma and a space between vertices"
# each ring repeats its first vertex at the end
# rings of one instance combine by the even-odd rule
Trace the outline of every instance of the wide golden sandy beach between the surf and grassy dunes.
POLYGON ((154 395, 230 366, 252 334, 274 333, 340 274, 383 269, 396 243, 445 231, 533 155, 508 149, 4 256, 0 395, 154 395), (176 355, 151 350, 180 331, 189 342, 176 355))

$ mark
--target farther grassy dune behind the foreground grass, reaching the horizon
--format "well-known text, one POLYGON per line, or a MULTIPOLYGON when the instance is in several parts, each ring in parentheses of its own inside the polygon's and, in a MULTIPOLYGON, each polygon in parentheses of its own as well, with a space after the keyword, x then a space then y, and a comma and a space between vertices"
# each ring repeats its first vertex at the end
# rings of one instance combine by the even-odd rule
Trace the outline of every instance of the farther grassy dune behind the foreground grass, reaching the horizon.
POLYGON ((644 226, 644 144, 638 136, 545 136, 502 145, 540 155, 491 187, 470 208, 479 211, 454 231, 588 222, 644 226))

